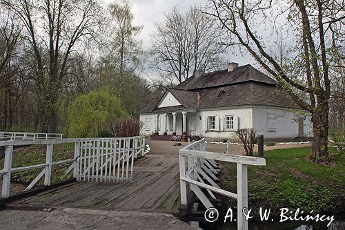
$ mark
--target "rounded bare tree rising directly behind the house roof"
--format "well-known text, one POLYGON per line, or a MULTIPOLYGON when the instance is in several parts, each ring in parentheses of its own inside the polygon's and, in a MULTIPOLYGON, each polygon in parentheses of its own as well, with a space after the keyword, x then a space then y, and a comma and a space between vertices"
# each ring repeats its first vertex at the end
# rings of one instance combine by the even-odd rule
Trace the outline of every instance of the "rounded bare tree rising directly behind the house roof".
POLYGON ((195 70, 212 70, 220 65, 224 50, 219 34, 208 19, 196 8, 182 15, 176 7, 166 14, 164 23, 155 23, 156 32, 151 35, 152 68, 163 77, 188 79, 195 70))

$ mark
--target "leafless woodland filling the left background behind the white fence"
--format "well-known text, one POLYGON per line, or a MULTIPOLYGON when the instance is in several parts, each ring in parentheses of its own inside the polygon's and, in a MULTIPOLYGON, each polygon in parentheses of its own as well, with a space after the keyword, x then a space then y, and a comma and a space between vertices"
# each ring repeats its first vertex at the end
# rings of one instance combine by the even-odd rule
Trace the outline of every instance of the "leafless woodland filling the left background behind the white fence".
POLYGON ((1 1, 0 13, 1 131, 68 137, 74 119, 135 115, 160 95, 142 73, 128 1, 1 1), (119 108, 104 110, 114 100, 119 108))

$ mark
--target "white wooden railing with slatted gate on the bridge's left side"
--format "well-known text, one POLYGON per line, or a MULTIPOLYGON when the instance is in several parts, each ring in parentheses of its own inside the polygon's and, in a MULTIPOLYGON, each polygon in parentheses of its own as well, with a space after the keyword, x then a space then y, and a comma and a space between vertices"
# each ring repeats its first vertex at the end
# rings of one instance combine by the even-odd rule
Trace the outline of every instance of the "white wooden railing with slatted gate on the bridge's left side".
POLYGON ((73 178, 83 181, 121 182, 132 180, 134 159, 145 154, 145 137, 116 137, 116 138, 75 138, 48 140, 8 140, 0 141, 5 146, 5 160, 0 176, 3 176, 1 198, 10 195, 11 173, 43 168, 41 173, 28 185, 25 191, 39 182, 44 175, 44 185, 49 186, 52 166, 70 164, 61 180, 73 170, 73 178), (74 158, 52 162, 53 145, 75 143, 74 158), (46 162, 12 168, 13 146, 46 145, 46 162))

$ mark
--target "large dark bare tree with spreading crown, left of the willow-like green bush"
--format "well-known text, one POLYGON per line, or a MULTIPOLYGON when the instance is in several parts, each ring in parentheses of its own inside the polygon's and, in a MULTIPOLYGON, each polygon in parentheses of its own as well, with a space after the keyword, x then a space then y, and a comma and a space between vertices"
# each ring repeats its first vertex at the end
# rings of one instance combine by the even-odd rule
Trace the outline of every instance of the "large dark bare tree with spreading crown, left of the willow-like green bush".
POLYGON ((57 100, 71 53, 83 39, 92 39, 99 26, 96 0, 0 0, 19 17, 33 52, 32 69, 41 131, 57 131, 57 100))

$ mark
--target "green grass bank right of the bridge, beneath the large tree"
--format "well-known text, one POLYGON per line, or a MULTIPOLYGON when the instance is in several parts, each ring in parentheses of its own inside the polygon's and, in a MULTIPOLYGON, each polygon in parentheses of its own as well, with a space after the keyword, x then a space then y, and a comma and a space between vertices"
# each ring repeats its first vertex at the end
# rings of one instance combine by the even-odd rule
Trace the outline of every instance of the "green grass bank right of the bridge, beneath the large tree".
MULTIPOLYGON (((259 207, 272 209, 300 208, 314 213, 345 212, 345 155, 330 148, 330 165, 306 160, 311 147, 266 151, 266 166, 248 166, 248 204, 253 211, 259 207)), ((236 165, 222 164, 221 186, 236 191, 236 165)), ((224 208, 236 207, 227 200, 224 208)))

